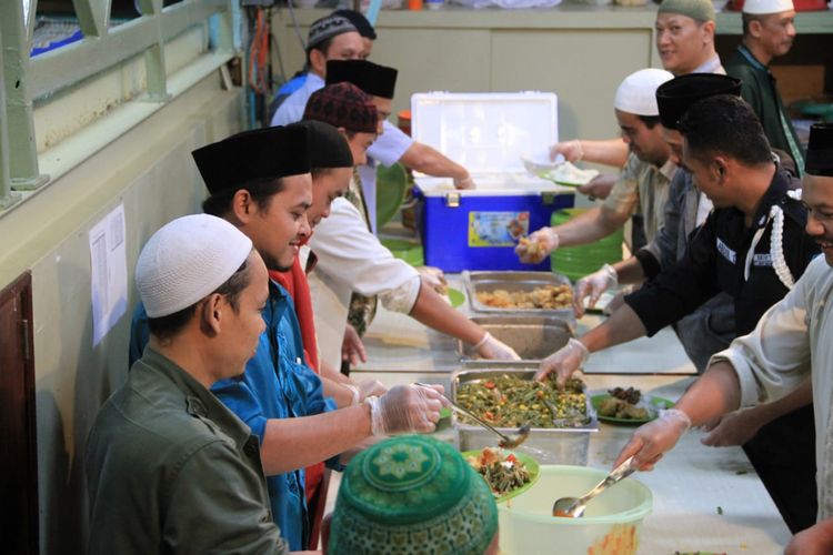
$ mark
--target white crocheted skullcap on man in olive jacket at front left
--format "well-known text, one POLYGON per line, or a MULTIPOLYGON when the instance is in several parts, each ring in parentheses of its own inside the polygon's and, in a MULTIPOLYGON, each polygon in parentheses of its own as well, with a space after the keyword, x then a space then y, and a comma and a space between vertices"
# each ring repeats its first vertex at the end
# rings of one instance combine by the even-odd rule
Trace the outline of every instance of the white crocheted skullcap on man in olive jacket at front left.
POLYGON ((232 224, 208 214, 178 218, 153 233, 136 263, 148 317, 187 309, 225 283, 252 251, 232 224))

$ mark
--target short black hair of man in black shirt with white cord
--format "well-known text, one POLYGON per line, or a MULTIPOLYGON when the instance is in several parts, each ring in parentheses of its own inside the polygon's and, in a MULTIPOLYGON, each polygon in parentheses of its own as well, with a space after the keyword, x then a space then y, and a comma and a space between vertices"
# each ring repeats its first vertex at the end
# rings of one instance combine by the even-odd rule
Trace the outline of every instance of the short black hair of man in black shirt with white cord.
POLYGON ((694 157, 725 154, 744 165, 772 162, 772 150, 755 112, 742 99, 717 94, 700 100, 678 125, 694 157))

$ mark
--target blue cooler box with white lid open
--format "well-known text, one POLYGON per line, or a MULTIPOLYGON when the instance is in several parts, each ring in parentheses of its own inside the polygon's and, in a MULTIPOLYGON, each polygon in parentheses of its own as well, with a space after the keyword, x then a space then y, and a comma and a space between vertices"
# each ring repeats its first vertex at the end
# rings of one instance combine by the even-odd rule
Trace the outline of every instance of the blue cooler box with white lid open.
POLYGON ((411 97, 413 138, 465 167, 474 190, 415 175, 425 264, 462 270, 550 270, 523 264, 518 240, 574 204, 572 189, 531 175, 521 155, 558 142, 553 93, 418 93, 411 97))

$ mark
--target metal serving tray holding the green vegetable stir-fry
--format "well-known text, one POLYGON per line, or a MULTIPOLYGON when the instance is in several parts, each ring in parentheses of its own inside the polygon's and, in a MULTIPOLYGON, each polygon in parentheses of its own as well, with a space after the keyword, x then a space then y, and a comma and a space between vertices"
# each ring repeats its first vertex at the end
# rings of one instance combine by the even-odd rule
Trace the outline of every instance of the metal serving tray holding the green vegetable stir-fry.
MULTIPOLYGON (((516 363, 518 366, 521 366, 516 363)), ((501 374, 514 374, 522 379, 532 380, 535 374, 534 365, 525 365, 516 369, 483 369, 463 370, 454 372, 451 376, 451 395, 456 401, 460 385, 501 374)), ((599 432, 599 420, 588 396, 588 415, 590 422, 579 427, 570 428, 543 428, 533 427, 526 441, 515 451, 533 456, 542 464, 574 464, 585 466, 588 464, 588 448, 590 434, 599 432)), ((456 413, 452 415, 452 425, 456 431, 460 451, 480 450, 496 446, 499 438, 480 426, 463 424, 459 421, 456 413)), ((514 433, 516 428, 500 427, 501 432, 514 433)))

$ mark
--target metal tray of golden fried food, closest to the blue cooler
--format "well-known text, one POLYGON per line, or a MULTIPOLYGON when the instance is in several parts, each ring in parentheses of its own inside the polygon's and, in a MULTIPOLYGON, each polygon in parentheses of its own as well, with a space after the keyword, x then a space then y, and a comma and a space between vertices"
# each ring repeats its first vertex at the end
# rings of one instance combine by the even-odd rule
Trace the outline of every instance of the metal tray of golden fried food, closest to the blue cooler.
POLYGON ((478 292, 492 292, 499 289, 509 292, 533 291, 546 285, 570 285, 570 279, 565 275, 552 272, 463 272, 469 301, 474 312, 486 312, 491 314, 536 314, 556 316, 564 320, 575 320, 573 309, 496 309, 488 306, 478 301, 478 292))

